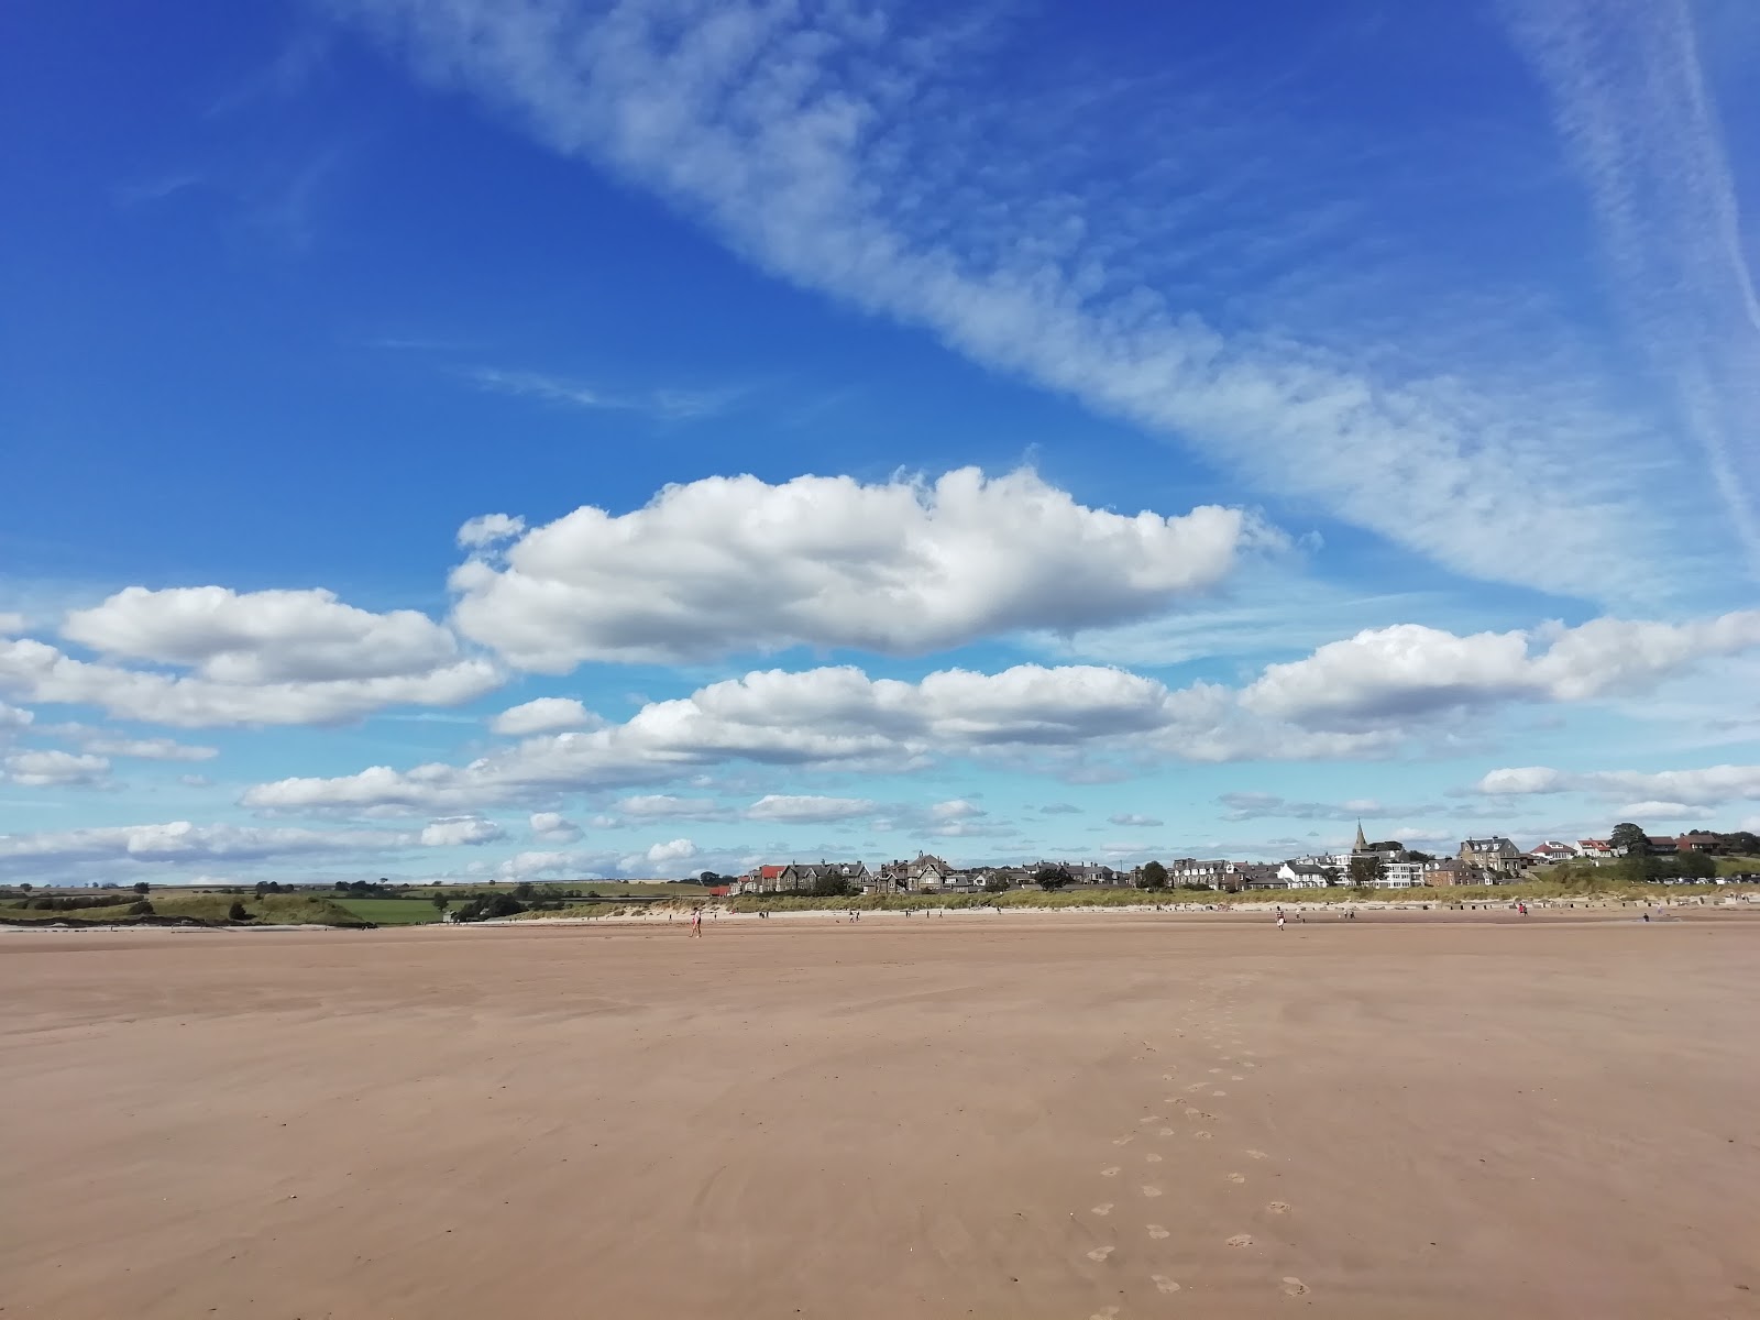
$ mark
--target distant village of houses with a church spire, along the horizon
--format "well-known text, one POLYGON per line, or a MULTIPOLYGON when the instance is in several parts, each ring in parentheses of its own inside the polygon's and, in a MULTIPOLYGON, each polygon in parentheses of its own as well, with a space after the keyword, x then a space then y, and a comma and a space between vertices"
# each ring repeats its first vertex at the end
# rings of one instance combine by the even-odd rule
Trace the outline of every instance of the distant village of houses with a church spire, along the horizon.
MULTIPOLYGON (((922 852, 912 861, 891 861, 878 868, 866 862, 774 862, 753 866, 744 875, 716 876, 711 892, 732 894, 970 894, 1003 892, 1026 885, 1063 889, 1067 885, 1114 885, 1137 889, 1211 889, 1241 892, 1248 889, 1327 889, 1355 885, 1364 889, 1420 889, 1448 885, 1507 885, 1521 882, 1540 866, 1586 862, 1602 866, 1635 857, 1670 859, 1672 866, 1654 868, 1691 878, 1711 878, 1716 855, 1760 854, 1753 834, 1691 831, 1654 838, 1635 825, 1619 825, 1605 840, 1563 843, 1547 840, 1522 850, 1501 834, 1461 840, 1452 857, 1438 857, 1406 848, 1397 840, 1371 843, 1357 824, 1350 852, 1309 854, 1285 862, 1236 862, 1223 857, 1176 857, 1169 862, 1144 862, 1128 869, 1102 862, 1038 861, 1016 866, 950 866, 943 857, 922 852), (1698 859, 1697 864, 1690 859, 1698 859)), ((709 876, 704 876, 706 882, 709 876)), ((1748 876, 1742 876, 1748 878, 1748 876)))

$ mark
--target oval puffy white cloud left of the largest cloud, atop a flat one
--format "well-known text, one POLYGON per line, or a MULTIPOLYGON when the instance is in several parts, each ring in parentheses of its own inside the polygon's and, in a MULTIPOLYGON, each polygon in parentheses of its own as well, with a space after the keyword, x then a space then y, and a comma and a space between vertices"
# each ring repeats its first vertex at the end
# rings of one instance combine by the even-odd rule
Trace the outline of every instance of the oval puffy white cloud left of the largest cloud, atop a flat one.
POLYGON ((458 658, 452 634, 426 614, 373 614, 322 590, 130 586, 72 611, 62 635, 107 656, 187 665, 231 685, 407 678, 458 658))

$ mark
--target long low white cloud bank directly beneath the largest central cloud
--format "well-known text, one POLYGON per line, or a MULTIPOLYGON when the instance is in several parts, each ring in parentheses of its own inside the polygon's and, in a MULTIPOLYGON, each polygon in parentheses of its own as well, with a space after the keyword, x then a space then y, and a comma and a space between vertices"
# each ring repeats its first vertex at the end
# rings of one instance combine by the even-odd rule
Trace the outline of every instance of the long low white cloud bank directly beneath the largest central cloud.
MULTIPOLYGON (((1230 760, 1350 757, 1387 746, 1383 734, 1272 727, 1234 709, 1225 688, 1169 692, 1118 669, 949 669, 905 683, 829 667, 752 672, 685 699, 651 702, 621 725, 528 737, 466 766, 373 766, 341 778, 280 780, 255 785, 243 801, 275 811, 472 811, 568 790, 656 783, 729 760, 899 769, 935 755, 1007 753, 1045 755, 1058 767, 1058 757, 1082 752, 1230 760)), ((630 801, 656 813, 674 810, 679 799, 630 801)), ((690 810, 718 808, 704 799, 690 810)))

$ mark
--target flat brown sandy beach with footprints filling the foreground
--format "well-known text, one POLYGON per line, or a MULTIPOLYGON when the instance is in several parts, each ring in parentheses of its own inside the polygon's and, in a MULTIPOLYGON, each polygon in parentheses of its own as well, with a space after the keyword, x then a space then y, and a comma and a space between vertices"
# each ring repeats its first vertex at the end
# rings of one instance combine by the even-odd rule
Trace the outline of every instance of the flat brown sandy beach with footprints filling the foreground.
POLYGON ((1760 920, 0 936, 0 1315, 1760 1315, 1760 920))

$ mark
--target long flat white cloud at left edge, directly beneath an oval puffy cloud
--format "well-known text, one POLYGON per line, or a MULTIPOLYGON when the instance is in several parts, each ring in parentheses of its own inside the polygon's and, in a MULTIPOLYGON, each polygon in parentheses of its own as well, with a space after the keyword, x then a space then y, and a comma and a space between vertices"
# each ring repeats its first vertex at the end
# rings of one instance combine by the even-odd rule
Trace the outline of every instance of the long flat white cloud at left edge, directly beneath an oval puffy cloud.
POLYGON ((180 729, 345 723, 387 706, 461 706, 500 685, 486 660, 380 678, 231 683, 76 660, 28 637, 0 641, 0 692, 180 729))

